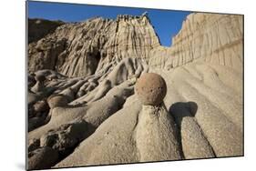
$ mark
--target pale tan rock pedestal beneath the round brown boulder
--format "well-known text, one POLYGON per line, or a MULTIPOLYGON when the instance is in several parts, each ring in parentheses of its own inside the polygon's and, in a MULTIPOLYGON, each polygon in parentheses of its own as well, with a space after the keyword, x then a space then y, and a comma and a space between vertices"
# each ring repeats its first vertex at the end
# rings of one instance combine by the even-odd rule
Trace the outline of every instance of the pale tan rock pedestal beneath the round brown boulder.
POLYGON ((181 159, 176 133, 174 121, 163 104, 142 106, 136 131, 139 161, 181 159))

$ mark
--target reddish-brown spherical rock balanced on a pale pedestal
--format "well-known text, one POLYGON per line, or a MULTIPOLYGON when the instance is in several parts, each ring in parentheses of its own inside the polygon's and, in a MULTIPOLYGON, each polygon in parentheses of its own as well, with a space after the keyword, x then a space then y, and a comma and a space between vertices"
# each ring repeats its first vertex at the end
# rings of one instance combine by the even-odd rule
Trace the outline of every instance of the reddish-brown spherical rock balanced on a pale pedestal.
POLYGON ((167 93, 165 80, 155 73, 141 75, 135 89, 142 104, 150 106, 158 106, 167 93))

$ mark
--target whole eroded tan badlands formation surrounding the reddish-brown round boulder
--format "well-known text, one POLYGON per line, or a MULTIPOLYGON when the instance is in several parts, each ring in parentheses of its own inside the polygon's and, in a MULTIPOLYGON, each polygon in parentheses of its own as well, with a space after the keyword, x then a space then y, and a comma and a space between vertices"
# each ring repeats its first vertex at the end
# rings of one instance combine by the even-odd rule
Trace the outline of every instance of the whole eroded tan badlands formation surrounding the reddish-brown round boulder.
POLYGON ((46 30, 28 45, 28 168, 243 156, 242 22, 190 14, 170 47, 147 15, 46 30), (136 93, 145 73, 158 106, 136 93))

